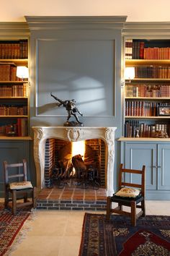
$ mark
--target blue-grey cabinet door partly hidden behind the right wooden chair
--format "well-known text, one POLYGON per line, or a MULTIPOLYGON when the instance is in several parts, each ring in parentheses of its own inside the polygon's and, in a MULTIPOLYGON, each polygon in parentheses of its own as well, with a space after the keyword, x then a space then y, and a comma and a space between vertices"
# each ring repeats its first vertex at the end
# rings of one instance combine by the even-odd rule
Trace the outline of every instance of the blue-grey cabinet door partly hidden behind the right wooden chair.
MULTIPOLYGON (((129 143, 125 145, 125 167, 142 169, 146 166, 146 189, 156 189, 156 144, 129 143)), ((129 182, 140 182, 139 176, 126 176, 129 182)))

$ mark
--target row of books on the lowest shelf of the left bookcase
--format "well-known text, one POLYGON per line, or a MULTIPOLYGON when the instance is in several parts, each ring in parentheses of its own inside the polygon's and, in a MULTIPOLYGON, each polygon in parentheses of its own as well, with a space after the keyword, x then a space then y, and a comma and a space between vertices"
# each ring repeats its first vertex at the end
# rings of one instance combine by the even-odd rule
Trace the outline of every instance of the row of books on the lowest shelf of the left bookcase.
POLYGON ((28 135, 27 119, 17 119, 15 124, 6 124, 0 126, 0 136, 19 136, 24 137, 28 135))

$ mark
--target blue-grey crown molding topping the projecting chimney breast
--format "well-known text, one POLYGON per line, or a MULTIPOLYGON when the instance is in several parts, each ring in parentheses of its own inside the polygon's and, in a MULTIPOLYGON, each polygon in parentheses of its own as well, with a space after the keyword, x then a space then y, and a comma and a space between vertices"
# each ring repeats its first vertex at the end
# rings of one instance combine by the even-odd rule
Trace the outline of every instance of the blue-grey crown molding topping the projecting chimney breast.
POLYGON ((122 29, 127 16, 25 16, 30 30, 122 29))

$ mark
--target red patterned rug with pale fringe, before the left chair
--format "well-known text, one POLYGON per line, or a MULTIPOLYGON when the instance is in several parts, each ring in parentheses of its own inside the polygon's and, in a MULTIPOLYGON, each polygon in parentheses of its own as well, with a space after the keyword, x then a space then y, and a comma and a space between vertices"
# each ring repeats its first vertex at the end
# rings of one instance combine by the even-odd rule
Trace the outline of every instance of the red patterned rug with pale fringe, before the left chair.
POLYGON ((15 249, 15 242, 23 238, 24 231, 21 229, 24 222, 30 218, 30 213, 30 208, 22 208, 13 216, 12 210, 4 209, 4 205, 0 203, 0 256, 5 253, 9 255, 9 252, 15 249))

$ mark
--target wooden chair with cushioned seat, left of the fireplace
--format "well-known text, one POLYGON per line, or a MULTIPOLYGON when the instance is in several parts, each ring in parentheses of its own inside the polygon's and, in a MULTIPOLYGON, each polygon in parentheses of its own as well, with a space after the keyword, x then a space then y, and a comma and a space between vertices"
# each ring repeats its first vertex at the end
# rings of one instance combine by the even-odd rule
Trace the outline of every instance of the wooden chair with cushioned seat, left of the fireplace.
POLYGON ((17 213, 17 208, 32 205, 36 208, 36 188, 32 187, 31 182, 27 181, 27 161, 23 159, 22 163, 7 163, 4 161, 5 178, 5 208, 12 202, 12 214, 17 213), (10 180, 10 182, 9 182, 10 180), (10 197, 9 197, 10 195, 10 197), (28 200, 32 197, 32 200, 28 200), (23 199, 24 202, 18 202, 23 199))

